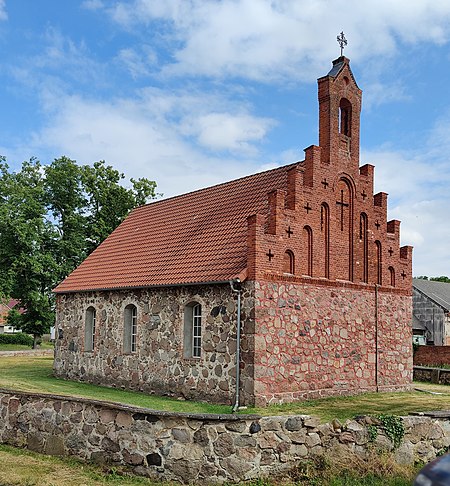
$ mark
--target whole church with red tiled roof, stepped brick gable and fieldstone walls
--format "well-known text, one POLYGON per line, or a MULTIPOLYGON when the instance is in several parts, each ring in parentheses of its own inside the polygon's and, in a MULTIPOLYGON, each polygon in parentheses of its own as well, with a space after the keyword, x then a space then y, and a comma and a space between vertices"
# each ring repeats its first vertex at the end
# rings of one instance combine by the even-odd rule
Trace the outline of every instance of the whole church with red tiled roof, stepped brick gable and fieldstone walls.
POLYGON ((241 404, 408 387, 412 248, 349 60, 318 84, 304 161, 135 209, 55 289, 58 376, 231 403, 240 314, 241 404))

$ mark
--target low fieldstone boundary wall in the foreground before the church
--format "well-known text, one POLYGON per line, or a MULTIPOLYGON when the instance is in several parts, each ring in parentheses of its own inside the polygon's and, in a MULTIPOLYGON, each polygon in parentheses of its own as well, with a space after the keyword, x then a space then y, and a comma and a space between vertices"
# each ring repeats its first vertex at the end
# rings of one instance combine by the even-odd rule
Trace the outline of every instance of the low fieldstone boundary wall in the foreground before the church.
POLYGON ((403 417, 395 451, 370 417, 320 424, 308 415, 261 417, 170 413, 0 389, 0 442, 50 455, 128 466, 135 474, 183 483, 237 482, 276 475, 318 454, 373 447, 400 463, 429 461, 450 446, 450 411, 403 417))

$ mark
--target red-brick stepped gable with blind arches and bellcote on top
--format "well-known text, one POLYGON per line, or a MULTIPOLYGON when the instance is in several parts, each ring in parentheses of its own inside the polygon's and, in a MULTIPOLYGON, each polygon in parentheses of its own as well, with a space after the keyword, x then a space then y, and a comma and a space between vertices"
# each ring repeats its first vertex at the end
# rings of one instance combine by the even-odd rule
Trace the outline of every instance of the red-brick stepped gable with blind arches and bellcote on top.
POLYGON ((374 194, 374 167, 359 167, 361 90, 348 59, 337 62, 343 67, 335 77, 319 79, 320 146, 305 149, 305 161, 288 174, 286 191, 267 195, 267 214, 248 220, 248 277, 259 280, 266 272, 282 277, 290 250, 295 276, 380 284, 410 293, 412 247, 400 248, 400 221, 387 219, 388 195, 374 194), (352 112, 348 136, 339 131, 343 99, 352 112), (305 226, 312 233, 311 262, 305 226))

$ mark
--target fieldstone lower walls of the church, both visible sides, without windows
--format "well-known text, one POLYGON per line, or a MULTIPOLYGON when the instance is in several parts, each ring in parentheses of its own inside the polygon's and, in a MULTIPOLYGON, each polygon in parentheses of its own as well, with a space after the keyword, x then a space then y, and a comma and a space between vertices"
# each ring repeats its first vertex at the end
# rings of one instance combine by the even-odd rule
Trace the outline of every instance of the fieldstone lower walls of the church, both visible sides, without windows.
MULTIPOLYGON (((246 282, 241 404, 266 405, 369 390, 412 378, 411 297, 369 285, 311 280, 246 282)), ((304 280, 304 279, 303 279, 304 280)), ((231 404, 236 302, 229 285, 57 296, 55 374, 147 393, 231 404), (200 358, 183 356, 185 306, 202 305, 200 358), (136 305, 137 349, 123 349, 124 309, 136 305), (95 346, 84 349, 86 310, 95 346)))

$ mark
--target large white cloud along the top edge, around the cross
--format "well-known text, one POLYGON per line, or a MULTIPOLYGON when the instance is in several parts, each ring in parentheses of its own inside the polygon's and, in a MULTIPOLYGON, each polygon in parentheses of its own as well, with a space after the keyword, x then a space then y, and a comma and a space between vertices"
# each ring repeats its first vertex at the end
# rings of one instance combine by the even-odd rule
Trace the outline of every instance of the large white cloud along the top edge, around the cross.
POLYGON ((450 37, 450 3, 443 0, 135 0, 108 11, 130 29, 163 22, 174 41, 169 74, 310 80, 337 57, 341 29, 352 59, 379 62, 399 43, 450 37))

